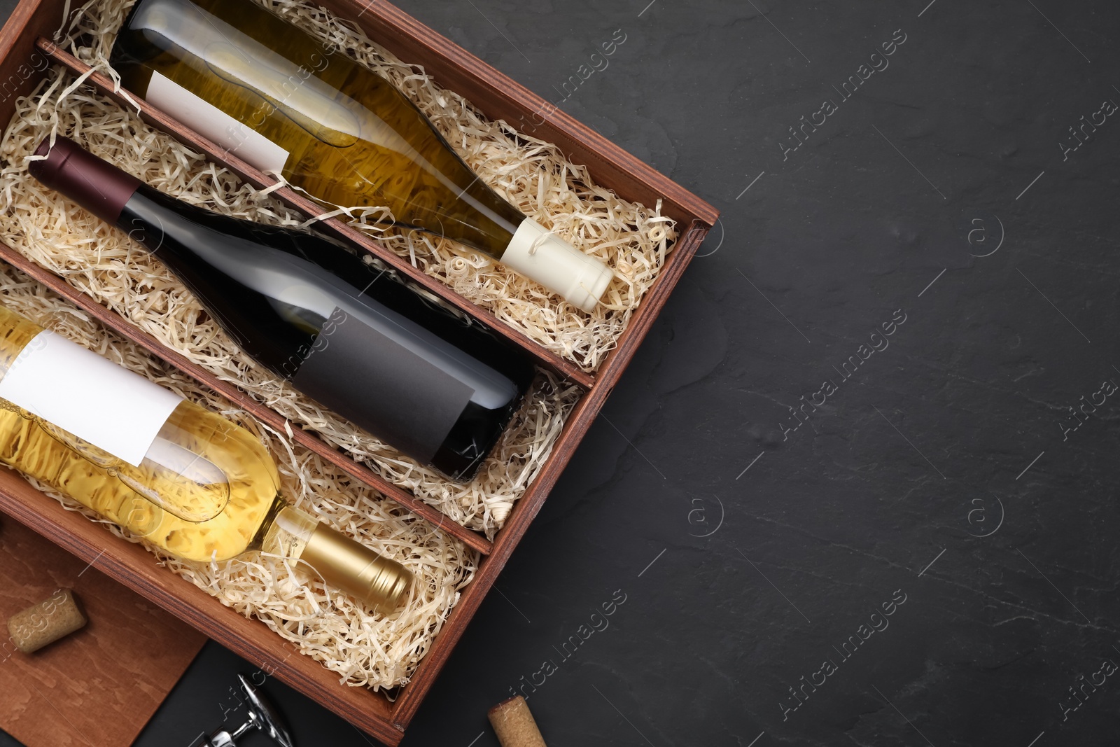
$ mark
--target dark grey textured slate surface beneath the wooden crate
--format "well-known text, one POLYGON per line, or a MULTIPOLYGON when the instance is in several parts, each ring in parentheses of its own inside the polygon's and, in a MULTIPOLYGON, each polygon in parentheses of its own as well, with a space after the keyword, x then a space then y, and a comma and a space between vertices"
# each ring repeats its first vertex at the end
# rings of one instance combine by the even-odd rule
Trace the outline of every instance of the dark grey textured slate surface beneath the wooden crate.
POLYGON ((404 745, 1114 744, 1120 9, 647 2, 402 2, 724 212, 404 745))

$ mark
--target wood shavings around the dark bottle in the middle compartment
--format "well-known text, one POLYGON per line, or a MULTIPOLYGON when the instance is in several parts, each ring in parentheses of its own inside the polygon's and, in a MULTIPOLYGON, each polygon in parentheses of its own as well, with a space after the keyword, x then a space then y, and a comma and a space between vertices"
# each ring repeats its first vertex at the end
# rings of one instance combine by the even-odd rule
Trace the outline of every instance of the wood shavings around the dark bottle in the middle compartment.
POLYGON ((52 133, 73 138, 95 156, 186 203, 261 223, 301 223, 298 214, 231 171, 148 127, 62 68, 53 68, 32 95, 17 100, 0 142, 0 239, 164 345, 411 491, 448 519, 491 539, 496 535, 551 454, 581 394, 577 386, 539 372, 478 476, 466 485, 452 483, 255 364, 142 246, 31 178, 27 159, 52 133))

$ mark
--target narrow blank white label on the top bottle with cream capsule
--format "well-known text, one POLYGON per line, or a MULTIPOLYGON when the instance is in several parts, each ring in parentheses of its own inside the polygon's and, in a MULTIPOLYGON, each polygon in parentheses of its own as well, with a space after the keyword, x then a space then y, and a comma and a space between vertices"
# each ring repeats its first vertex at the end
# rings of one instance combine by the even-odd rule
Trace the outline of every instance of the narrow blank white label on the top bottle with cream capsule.
POLYGON ((226 153, 236 156, 259 171, 280 174, 288 162, 287 150, 157 71, 151 73, 144 97, 156 109, 213 140, 225 148, 226 153))

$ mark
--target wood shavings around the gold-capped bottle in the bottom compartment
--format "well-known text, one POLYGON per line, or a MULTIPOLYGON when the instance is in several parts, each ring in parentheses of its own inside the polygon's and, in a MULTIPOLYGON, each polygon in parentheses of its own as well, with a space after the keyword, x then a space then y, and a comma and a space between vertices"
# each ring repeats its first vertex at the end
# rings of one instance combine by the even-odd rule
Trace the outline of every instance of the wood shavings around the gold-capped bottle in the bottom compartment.
POLYGON ((478 555, 428 522, 355 484, 314 452, 293 445, 144 349, 106 330, 80 309, 0 263, 0 302, 175 393, 248 428, 268 447, 280 470, 281 492, 363 544, 403 563, 414 576, 404 608, 377 616, 348 596, 327 589, 314 573, 292 570, 278 555, 252 552, 224 563, 190 563, 31 480, 69 511, 103 524, 113 534, 143 544, 160 564, 246 617, 255 617, 339 676, 373 690, 403 684, 447 619, 459 591, 473 578, 478 555))

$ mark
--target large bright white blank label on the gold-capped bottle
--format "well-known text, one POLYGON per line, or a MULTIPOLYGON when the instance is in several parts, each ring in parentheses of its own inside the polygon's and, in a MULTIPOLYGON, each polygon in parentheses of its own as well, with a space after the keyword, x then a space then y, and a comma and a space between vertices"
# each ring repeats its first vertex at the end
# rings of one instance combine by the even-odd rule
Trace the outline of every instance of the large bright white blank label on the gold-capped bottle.
POLYGON ((183 398, 44 330, 12 361, 0 398, 139 467, 183 398))

